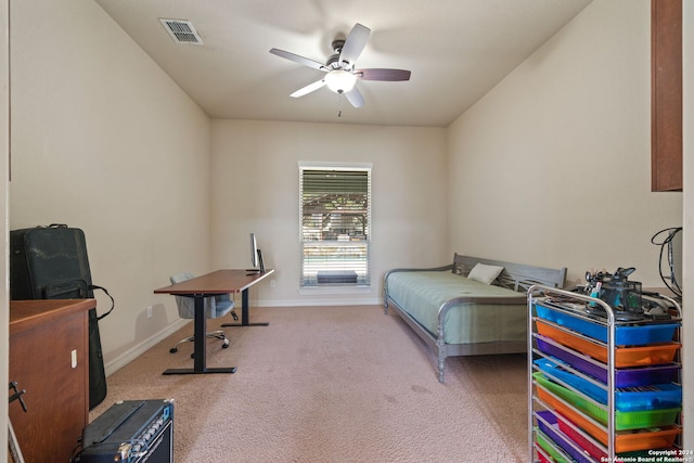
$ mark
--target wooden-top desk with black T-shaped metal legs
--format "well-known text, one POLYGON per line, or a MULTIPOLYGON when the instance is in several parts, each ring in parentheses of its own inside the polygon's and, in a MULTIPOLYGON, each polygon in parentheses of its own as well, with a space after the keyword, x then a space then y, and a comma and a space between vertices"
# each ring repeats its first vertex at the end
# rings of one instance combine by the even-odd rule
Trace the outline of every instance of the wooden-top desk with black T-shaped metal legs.
MULTIPOLYGON (((155 294, 171 294, 175 296, 192 297, 195 299, 194 320, 194 363, 193 369, 169 369, 164 374, 203 374, 203 373, 235 373, 236 368, 207 368, 206 338, 207 319, 205 318, 205 297, 220 294, 241 293, 242 314, 241 324, 232 326, 247 326, 248 323, 248 288, 270 275, 274 270, 250 273, 246 270, 217 270, 202 276, 187 280, 181 283, 154 290, 155 294)), ((228 325, 222 325, 228 326, 228 325)))

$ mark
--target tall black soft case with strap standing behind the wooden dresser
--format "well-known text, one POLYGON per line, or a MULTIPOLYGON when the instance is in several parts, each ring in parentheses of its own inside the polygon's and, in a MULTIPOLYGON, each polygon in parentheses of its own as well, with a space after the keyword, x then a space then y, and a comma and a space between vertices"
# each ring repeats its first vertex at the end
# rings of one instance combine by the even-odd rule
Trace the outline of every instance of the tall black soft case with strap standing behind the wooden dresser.
POLYGON ((91 283, 85 233, 64 224, 10 231, 11 299, 82 299, 103 291, 111 309, 97 316, 89 310, 89 409, 106 397, 106 374, 99 320, 113 310, 108 292, 91 283))

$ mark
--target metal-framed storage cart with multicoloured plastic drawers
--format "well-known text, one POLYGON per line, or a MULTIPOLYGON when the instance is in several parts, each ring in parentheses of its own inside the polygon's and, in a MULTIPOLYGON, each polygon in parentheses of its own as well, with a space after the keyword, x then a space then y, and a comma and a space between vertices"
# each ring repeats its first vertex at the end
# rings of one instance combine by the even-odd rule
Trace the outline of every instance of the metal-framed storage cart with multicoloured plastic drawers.
POLYGON ((677 461, 681 308, 665 299, 666 319, 620 321, 601 299, 528 290, 529 461, 677 461))

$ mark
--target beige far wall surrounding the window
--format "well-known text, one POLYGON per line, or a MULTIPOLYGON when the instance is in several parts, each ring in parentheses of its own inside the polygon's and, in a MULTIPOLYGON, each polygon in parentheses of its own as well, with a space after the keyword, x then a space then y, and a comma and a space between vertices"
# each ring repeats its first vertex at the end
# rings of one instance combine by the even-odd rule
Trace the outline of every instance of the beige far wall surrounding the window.
POLYGON ((253 304, 377 304, 386 270, 450 261, 445 129, 215 120, 211 138, 213 267, 248 267, 255 232, 277 269, 253 304), (373 165, 373 291, 299 294, 299 160, 373 165))

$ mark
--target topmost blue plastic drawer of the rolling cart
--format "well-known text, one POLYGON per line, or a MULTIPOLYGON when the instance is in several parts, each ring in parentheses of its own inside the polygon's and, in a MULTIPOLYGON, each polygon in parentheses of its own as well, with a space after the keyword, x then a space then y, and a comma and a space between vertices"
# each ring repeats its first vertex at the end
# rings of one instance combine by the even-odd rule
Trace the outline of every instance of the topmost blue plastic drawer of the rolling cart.
MULTIPOLYGON (((575 332, 607 343, 607 326, 573 317, 541 304, 536 304, 536 311, 541 319, 556 323, 575 332)), ((615 326, 616 346, 643 346, 651 343, 668 343, 674 337, 680 323, 653 323, 646 325, 615 326)))

